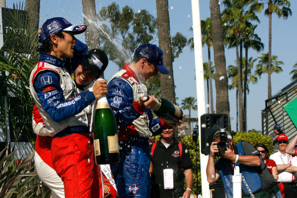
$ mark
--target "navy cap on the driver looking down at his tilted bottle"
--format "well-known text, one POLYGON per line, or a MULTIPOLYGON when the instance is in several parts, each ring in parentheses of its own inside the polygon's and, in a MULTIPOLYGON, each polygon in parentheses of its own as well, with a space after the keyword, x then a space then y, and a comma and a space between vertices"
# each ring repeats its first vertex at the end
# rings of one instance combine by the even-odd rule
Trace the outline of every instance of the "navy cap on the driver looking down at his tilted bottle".
POLYGON ((140 45, 137 49, 135 49, 135 53, 143 58, 146 58, 148 62, 153 63, 162 74, 169 74, 169 71, 163 65, 163 51, 156 45, 140 45))

